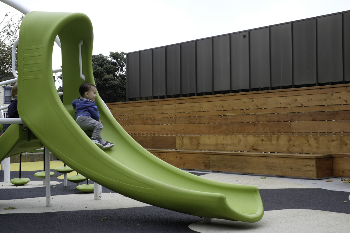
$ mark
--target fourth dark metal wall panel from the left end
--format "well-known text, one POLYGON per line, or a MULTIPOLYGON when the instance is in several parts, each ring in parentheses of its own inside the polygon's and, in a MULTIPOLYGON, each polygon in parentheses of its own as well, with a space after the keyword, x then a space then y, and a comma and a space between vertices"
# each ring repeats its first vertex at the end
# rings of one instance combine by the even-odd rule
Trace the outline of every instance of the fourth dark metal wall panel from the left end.
POLYGON ((180 94, 180 45, 167 46, 167 95, 180 94))

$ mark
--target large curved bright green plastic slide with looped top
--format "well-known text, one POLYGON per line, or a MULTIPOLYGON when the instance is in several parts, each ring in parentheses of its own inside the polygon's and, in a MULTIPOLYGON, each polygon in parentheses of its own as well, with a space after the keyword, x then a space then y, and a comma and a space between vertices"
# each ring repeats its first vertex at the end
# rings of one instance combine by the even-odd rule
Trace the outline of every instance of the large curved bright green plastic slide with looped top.
MULTIPOLYGON (((149 153, 118 124, 103 101, 102 137, 116 145, 102 151, 79 128, 71 102, 80 95, 82 74, 92 74, 92 24, 82 13, 30 12, 21 24, 18 52, 18 111, 28 130, 11 125, 0 137, 0 160, 21 148, 49 148, 57 158, 92 181, 138 201, 200 217, 257 222, 264 214, 257 187, 211 181, 184 172, 149 153), (52 78, 52 48, 62 43, 62 104, 52 78), (81 44, 81 43, 80 43, 81 44), (22 131, 21 131, 22 130, 22 131), (6 141, 6 137, 12 139, 6 141), (25 136, 28 135, 28 140, 25 136), (21 139, 16 140, 16 137, 21 139), (4 144, 6 141, 6 144, 4 144), (7 148, 9 147, 9 148, 7 148)), ((106 38, 106 43, 112 43, 106 38)), ((22 150, 23 151, 23 150, 22 150)))

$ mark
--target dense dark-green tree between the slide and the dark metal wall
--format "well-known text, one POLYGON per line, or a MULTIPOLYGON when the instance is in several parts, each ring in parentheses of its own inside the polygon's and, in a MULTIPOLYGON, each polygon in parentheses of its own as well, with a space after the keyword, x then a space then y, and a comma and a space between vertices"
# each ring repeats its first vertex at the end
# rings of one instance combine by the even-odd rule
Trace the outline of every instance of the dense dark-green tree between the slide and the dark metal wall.
POLYGON ((126 55, 110 52, 92 55, 92 71, 98 93, 106 103, 126 101, 126 55))

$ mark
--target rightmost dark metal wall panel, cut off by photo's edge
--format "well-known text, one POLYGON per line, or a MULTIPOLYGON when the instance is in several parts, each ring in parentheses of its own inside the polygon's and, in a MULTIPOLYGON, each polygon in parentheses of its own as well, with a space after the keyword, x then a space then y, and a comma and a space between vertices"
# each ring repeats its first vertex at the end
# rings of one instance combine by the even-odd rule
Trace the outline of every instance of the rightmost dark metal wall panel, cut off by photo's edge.
POLYGON ((343 13, 344 80, 350 80, 350 12, 343 13))

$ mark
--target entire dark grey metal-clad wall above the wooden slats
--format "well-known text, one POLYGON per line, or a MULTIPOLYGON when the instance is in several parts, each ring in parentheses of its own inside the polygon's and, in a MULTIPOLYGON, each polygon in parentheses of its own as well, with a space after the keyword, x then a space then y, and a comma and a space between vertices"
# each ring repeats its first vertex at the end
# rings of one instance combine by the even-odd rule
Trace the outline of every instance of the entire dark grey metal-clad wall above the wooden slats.
POLYGON ((350 11, 127 54, 128 101, 350 82, 350 11))

